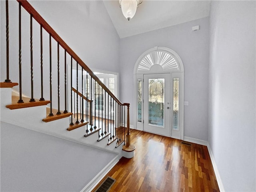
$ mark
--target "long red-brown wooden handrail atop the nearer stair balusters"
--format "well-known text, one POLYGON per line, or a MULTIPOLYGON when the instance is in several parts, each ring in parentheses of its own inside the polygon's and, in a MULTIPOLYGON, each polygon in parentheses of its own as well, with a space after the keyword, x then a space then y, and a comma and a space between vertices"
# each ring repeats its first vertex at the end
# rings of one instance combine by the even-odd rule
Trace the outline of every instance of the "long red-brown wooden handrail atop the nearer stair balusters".
POLYGON ((64 50, 66 50, 66 52, 68 52, 68 54, 70 54, 70 56, 72 56, 72 58, 74 58, 74 60, 76 60, 76 62, 78 62, 78 64, 84 69, 86 70, 86 72, 88 72, 88 74, 90 74, 90 76, 100 85, 102 86, 102 88, 104 90, 106 90, 106 92, 112 97, 114 98, 114 100, 122 105, 122 106, 128 106, 128 103, 122 103, 120 102, 120 100, 118 100, 118 98, 116 98, 116 96, 114 96, 114 94, 100 81, 100 79, 92 72, 92 70, 90 70, 90 68, 88 68, 88 66, 82 61, 82 59, 80 59, 78 57, 78 55, 64 42, 64 40, 62 40, 62 38, 60 38, 60 36, 54 31, 54 29, 44 20, 44 18, 42 18, 42 16, 40 16, 40 14, 30 5, 30 3, 26 0, 17 0, 21 6, 29 13, 32 14, 33 18, 42 26, 42 28, 44 28, 44 30, 46 30, 46 32, 48 32, 49 34, 51 34, 52 38, 54 38, 56 40, 56 42, 58 42, 60 44, 60 46, 62 46, 62 48, 64 50))

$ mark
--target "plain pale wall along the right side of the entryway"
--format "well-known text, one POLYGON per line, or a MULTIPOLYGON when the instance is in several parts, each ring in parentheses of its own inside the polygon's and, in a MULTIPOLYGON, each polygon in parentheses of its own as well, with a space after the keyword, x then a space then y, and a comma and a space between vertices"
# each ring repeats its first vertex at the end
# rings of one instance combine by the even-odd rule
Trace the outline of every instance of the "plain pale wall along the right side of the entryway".
POLYGON ((256 191, 255 30, 255 1, 212 1, 208 141, 225 191, 256 191))

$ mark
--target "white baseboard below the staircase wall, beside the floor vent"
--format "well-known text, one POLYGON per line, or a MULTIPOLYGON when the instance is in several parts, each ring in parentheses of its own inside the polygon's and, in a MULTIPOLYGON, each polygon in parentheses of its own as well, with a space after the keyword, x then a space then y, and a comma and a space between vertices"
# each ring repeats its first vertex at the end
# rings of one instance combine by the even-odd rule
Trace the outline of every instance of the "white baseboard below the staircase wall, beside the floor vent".
POLYGON ((119 158, 116 156, 101 172, 99 172, 91 181, 88 183, 81 192, 92 191, 98 183, 108 174, 108 172, 118 163, 119 158))

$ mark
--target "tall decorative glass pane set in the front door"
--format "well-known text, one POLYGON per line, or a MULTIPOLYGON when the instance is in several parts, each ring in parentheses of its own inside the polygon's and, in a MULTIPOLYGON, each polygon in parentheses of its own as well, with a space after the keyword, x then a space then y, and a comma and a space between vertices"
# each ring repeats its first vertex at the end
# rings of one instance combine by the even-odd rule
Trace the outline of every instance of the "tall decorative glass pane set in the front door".
POLYGON ((164 126, 164 79, 149 79, 148 123, 164 126))

